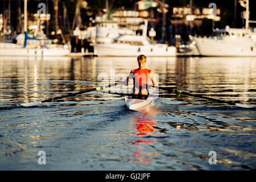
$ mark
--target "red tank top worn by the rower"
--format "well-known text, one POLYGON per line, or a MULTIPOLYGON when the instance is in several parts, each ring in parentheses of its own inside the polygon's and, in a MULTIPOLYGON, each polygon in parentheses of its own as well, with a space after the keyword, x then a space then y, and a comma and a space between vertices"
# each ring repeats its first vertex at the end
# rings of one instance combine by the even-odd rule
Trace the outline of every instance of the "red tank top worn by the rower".
POLYGON ((147 82, 150 81, 150 69, 134 69, 133 70, 133 84, 134 88, 142 86, 147 88, 147 82))

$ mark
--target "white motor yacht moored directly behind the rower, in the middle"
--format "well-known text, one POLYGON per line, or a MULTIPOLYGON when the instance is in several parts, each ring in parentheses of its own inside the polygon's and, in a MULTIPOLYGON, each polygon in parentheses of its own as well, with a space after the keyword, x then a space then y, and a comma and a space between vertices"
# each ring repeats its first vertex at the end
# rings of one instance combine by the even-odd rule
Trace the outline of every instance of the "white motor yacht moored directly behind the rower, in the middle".
POLYGON ((119 35, 110 43, 93 45, 97 56, 176 56, 176 48, 167 44, 151 44, 145 21, 142 35, 119 35))

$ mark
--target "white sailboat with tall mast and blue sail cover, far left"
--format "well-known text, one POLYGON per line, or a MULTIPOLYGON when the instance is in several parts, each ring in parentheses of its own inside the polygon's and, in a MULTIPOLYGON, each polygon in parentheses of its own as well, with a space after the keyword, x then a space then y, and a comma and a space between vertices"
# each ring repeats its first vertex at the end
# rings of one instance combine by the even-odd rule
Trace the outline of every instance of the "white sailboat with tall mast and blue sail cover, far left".
POLYGON ((27 0, 24 0, 24 44, 0 43, 0 56, 68 56, 70 53, 68 45, 44 44, 49 39, 37 39, 27 34, 27 0), (27 40, 36 40, 40 44, 27 46, 27 40))

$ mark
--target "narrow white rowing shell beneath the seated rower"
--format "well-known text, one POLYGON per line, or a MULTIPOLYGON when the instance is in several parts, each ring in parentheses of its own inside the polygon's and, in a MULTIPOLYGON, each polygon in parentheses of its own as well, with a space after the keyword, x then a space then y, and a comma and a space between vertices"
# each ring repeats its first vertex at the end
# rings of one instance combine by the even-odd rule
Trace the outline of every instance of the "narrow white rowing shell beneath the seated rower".
POLYGON ((130 96, 125 96, 125 105, 128 109, 136 110, 150 104, 153 100, 152 97, 147 97, 147 99, 129 98, 130 96))

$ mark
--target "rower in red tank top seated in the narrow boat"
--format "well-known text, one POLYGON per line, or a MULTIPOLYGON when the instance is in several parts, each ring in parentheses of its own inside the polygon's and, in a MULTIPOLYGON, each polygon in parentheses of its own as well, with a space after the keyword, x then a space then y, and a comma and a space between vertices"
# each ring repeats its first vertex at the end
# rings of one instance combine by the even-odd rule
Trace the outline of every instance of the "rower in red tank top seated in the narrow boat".
POLYGON ((124 85, 129 85, 129 82, 133 81, 133 94, 148 95, 148 86, 152 81, 153 86, 158 86, 155 73, 146 68, 147 57, 139 55, 137 57, 139 68, 133 69, 124 85))

